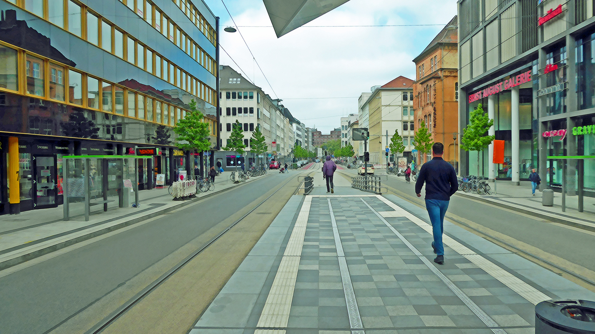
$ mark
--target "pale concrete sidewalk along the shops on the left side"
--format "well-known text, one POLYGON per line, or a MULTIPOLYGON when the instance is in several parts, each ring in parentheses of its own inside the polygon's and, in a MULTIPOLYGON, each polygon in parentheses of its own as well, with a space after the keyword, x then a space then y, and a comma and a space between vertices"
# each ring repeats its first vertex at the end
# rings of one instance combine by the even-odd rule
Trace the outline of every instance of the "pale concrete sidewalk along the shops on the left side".
MULTIPOLYGON (((88 240, 115 229, 124 228, 171 210, 196 203, 236 185, 229 173, 215 177, 215 190, 198 193, 193 200, 173 201, 167 187, 140 191, 140 207, 123 207, 99 211, 90 215, 63 219, 62 206, 54 209, 31 210, 20 215, 0 216, 0 270, 51 253, 68 245, 88 240)), ((250 177, 246 182, 265 177, 250 177)))

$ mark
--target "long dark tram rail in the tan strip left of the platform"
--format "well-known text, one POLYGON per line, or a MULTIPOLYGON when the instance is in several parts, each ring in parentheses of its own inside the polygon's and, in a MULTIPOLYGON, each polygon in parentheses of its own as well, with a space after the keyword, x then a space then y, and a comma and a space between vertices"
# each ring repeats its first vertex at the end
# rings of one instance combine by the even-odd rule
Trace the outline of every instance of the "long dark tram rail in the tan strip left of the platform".
MULTIPOLYGON (((305 171, 312 170, 311 172, 308 172, 308 174, 306 174, 306 175, 312 175, 316 171, 315 165, 316 164, 312 165, 310 168, 305 170, 305 171)), ((101 333, 110 324, 114 323, 118 318, 123 316, 123 314, 125 314, 127 311, 129 311, 131 308, 133 308, 134 305, 138 304, 139 301, 143 300, 143 298, 145 298, 146 296, 151 294, 152 291, 155 291, 155 289, 157 289, 162 283, 167 281, 168 278, 171 278, 174 274, 179 272, 179 270, 182 267, 184 267, 187 263, 189 263, 190 261, 195 259, 196 256, 198 256, 199 254, 203 253, 203 251, 205 251, 209 246, 214 244, 214 242, 216 242, 217 240, 220 240, 220 238, 223 237, 234 226, 236 226, 238 223, 242 222, 242 220, 244 220, 246 217, 248 217, 250 215, 250 213, 253 213, 256 209, 261 207, 262 204, 264 204, 265 202, 270 200, 271 197, 273 197, 279 190, 281 190, 283 187, 285 187, 287 184, 289 184, 289 182, 295 181, 295 179, 300 175, 299 172, 297 172, 295 174, 296 175, 292 176, 290 179, 288 179, 286 182, 284 182, 280 187, 278 187, 275 191, 273 191, 273 193, 271 193, 267 198, 262 200, 260 203, 256 204, 252 209, 250 209, 248 212, 246 212, 239 219, 235 220, 233 223, 226 226, 226 228, 224 228, 221 232, 216 234, 210 240, 206 241, 203 245, 201 245, 201 247, 199 247, 198 249, 193 251, 191 254, 189 254, 187 257, 185 257, 183 260, 181 260, 179 263, 177 263, 175 266, 171 267, 170 270, 168 270, 163 275, 159 276, 159 278, 155 279, 155 281, 151 282, 148 286, 143 288, 140 292, 138 292, 136 295, 134 295, 132 298, 130 298, 128 301, 126 301, 126 303, 122 304, 115 311, 113 311, 107 317, 102 319, 101 322, 96 323, 93 327, 91 327, 89 330, 87 330, 87 332, 85 332, 85 334, 101 333)), ((295 191, 295 193, 296 192, 297 192, 297 190, 295 191)), ((256 214, 258 214, 258 213, 256 213, 256 214)))

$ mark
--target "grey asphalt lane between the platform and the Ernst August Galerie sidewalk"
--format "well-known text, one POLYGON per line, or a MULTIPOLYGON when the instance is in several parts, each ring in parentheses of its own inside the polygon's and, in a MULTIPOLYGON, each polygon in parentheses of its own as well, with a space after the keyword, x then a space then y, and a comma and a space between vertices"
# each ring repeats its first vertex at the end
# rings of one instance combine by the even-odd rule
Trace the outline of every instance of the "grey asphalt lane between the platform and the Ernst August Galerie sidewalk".
MULTIPOLYGON (((346 169, 342 172, 356 175, 355 169, 346 169)), ((384 174, 384 171, 381 173, 384 174)), ((405 182, 405 177, 388 175, 388 178, 389 181, 386 184, 389 187, 408 195, 406 199, 409 201, 425 207, 425 192, 422 190, 421 198, 415 196, 415 182, 413 180, 408 184, 405 182)), ((559 223, 546 222, 456 194, 450 197, 447 216, 449 215, 455 219, 462 218, 465 221, 483 226, 487 228, 488 233, 496 232, 495 234, 508 236, 511 240, 518 241, 515 242, 516 246, 530 248, 532 254, 536 253, 533 248, 537 248, 543 253, 535 255, 548 257, 551 254, 554 257, 578 264, 578 266, 595 272, 595 257, 592 256, 595 245, 595 234, 593 232, 571 228, 559 223)), ((578 270, 578 268, 575 269, 578 270)), ((590 278, 595 279, 593 276, 590 278)))

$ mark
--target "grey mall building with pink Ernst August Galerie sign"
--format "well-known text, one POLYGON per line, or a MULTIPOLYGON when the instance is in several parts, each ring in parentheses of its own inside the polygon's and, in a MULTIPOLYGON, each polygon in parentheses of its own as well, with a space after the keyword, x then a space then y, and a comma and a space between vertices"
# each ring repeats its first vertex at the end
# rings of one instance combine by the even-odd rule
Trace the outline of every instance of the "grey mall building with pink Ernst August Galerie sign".
MULTIPOLYGON (((481 152, 480 175, 526 180, 579 195, 595 193, 593 2, 463 0, 459 6, 459 122, 481 103, 505 140, 504 164, 481 152)), ((477 153, 462 152, 477 170, 477 153)), ((581 197, 582 198, 582 197, 581 197)), ((580 208, 582 209, 582 208, 580 208)))

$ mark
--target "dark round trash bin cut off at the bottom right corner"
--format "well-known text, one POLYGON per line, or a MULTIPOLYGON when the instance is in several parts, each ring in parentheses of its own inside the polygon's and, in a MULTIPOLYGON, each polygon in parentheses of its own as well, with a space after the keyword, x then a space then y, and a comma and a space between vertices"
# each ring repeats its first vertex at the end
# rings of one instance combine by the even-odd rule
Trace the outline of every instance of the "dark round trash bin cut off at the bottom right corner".
POLYGON ((535 306, 535 332, 540 334, 595 333, 595 302, 546 300, 535 306))

